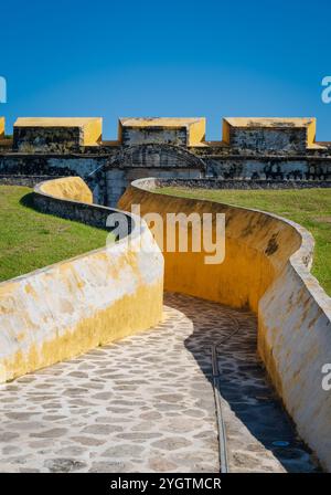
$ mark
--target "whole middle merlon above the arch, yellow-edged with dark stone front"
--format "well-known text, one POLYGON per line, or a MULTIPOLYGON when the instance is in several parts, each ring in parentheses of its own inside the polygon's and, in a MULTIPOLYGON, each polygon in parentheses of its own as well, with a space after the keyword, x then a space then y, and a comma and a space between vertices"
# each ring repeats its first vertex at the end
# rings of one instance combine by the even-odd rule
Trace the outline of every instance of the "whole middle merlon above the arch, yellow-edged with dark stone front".
POLYGON ((199 146, 205 140, 205 118, 120 118, 118 139, 125 146, 143 143, 199 146))

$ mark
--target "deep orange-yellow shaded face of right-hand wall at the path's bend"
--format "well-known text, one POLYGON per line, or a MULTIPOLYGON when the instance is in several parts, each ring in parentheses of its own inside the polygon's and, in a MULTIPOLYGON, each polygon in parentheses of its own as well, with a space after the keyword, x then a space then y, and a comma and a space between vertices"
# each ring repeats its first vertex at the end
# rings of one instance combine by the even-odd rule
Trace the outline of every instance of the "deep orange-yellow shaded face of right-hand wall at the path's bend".
POLYGON ((300 245, 300 235, 290 225, 260 212, 212 201, 157 194, 135 187, 125 192, 119 208, 130 210, 131 204, 140 204, 142 215, 158 212, 164 221, 170 212, 226 215, 224 263, 205 264, 204 257, 210 253, 204 251, 163 251, 164 287, 233 307, 250 307, 257 312, 258 302, 275 274, 300 245), (266 255, 274 240, 277 242, 277 251, 266 255))

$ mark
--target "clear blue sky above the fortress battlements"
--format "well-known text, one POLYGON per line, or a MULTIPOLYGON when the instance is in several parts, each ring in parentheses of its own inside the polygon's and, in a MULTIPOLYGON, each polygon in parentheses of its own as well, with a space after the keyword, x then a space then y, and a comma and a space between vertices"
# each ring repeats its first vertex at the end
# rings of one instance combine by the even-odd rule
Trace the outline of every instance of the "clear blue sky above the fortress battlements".
POLYGON ((18 116, 316 116, 331 140, 330 0, 15 0, 0 4, 8 128, 18 116))

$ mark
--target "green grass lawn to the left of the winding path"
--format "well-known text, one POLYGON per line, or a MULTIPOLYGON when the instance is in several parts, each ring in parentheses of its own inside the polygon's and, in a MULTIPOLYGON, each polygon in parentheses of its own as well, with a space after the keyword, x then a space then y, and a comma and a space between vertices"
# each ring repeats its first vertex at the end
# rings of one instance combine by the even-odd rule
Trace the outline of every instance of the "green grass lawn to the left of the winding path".
POLYGON ((29 193, 29 188, 0 186, 0 282, 106 244, 102 229, 23 206, 29 193))

